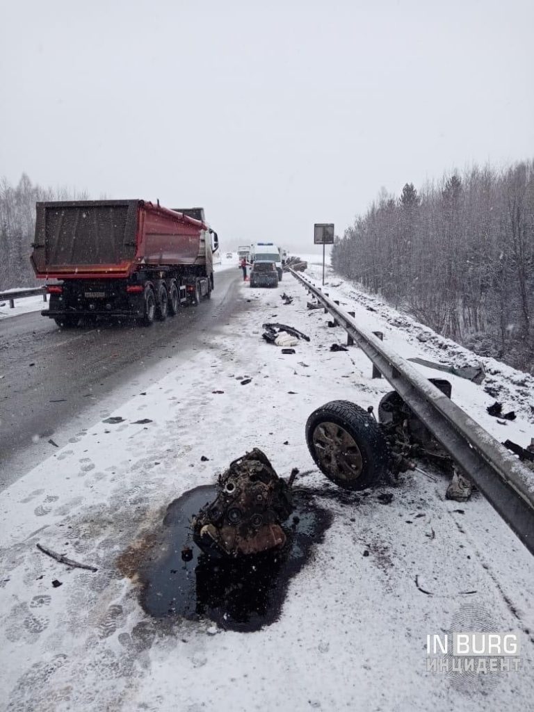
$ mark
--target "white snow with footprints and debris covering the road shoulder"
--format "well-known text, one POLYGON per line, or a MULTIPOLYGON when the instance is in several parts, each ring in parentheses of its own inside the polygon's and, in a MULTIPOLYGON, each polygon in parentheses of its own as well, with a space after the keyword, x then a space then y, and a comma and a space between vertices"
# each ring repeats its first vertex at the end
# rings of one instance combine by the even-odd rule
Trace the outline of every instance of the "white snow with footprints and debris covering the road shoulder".
MULTIPOLYGON (((310 273, 318 269, 312 265, 310 273)), ((462 506, 445 501, 447 483, 436 473, 408 473, 389 488, 388 505, 378 499, 384 488, 321 498, 333 524, 290 583, 280 619, 259 632, 213 634, 211 622, 179 622, 169 632, 147 617, 135 582, 117 570, 117 557, 159 525, 174 498, 214 481, 244 451, 261 447, 281 475, 313 468, 304 439, 310 412, 331 399, 376 407, 389 390, 371 379, 370 362, 357 348, 330 352, 345 334, 328 328, 322 310, 306 309, 307 295, 293 278, 285 276, 280 287, 251 290, 244 283, 245 309, 218 335, 206 333, 202 350, 190 349, 189 368, 140 386, 110 414, 123 422, 80 431, 0 496, 4 708, 530 708, 534 560, 481 496, 462 506), (292 305, 282 304, 283 290, 294 296, 292 305), (283 355, 261 339, 268 320, 293 325, 310 342, 283 355), (251 383, 241 385, 237 377, 244 376, 251 383), (135 424, 140 419, 151 422, 135 424), (36 543, 98 572, 68 569, 36 543), (431 595, 417 588, 416 577, 431 595), (56 579, 61 587, 52 586, 56 579), (426 635, 447 629, 466 604, 491 612, 500 630, 520 631, 522 671, 501 674, 496 686, 464 689, 425 671, 426 635)), ((383 330, 402 355, 466 357, 459 347, 440 348, 439 337, 420 343, 420 327, 350 286, 328 290, 364 327, 383 330)), ((486 414, 493 402, 486 382, 451 376, 453 398, 499 439, 525 444, 532 383, 493 367, 506 405, 518 412, 515 422, 501 426, 486 414)), ((315 472, 301 485, 325 482, 315 472)))

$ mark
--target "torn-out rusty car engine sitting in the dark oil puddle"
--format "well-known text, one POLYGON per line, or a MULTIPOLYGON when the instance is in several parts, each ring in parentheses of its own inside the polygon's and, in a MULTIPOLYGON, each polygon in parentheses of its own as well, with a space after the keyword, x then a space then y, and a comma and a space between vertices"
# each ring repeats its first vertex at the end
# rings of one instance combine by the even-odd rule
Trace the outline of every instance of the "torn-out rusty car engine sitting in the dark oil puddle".
POLYGON ((254 448, 219 476, 219 491, 192 523, 193 540, 210 556, 258 554, 286 543, 281 523, 293 511, 290 485, 254 448))

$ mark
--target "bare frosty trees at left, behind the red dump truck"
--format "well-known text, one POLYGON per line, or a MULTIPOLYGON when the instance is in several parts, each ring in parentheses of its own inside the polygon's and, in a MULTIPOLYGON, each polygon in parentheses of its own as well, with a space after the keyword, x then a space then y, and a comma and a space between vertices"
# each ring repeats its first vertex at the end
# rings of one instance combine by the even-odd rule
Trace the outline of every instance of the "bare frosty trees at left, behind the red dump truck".
POLYGON ((44 200, 84 200, 66 188, 42 188, 23 174, 13 186, 0 179, 0 290, 38 284, 30 264, 35 231, 35 204, 44 200))

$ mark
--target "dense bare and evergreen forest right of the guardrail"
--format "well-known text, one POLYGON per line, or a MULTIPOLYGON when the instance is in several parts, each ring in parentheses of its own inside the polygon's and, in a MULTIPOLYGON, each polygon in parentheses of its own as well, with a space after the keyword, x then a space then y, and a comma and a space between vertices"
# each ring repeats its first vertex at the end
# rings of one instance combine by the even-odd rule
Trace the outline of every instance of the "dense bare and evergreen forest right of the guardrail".
POLYGON ((478 354, 534 369, 534 161, 382 190, 332 264, 478 354))

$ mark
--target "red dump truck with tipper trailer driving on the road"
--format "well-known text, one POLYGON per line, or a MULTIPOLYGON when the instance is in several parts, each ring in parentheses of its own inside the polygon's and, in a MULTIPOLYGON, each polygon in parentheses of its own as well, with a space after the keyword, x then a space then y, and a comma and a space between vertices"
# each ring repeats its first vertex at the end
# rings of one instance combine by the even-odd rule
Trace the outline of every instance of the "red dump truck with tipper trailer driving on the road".
POLYGON ((31 263, 47 285, 41 314, 62 327, 98 317, 150 325, 214 288, 216 233, 201 208, 143 200, 37 203, 31 263))

